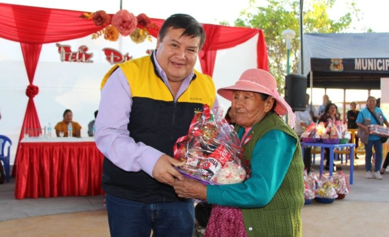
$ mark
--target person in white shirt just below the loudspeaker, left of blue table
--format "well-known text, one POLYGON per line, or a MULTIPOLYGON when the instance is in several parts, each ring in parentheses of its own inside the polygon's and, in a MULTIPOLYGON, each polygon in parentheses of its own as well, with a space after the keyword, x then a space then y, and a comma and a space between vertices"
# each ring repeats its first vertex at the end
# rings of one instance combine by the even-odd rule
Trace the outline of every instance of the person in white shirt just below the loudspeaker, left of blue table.
MULTIPOLYGON (((306 128, 314 122, 313 117, 318 116, 318 112, 315 107, 309 106, 309 95, 306 94, 306 109, 304 111, 295 111, 296 114, 296 125, 294 126, 294 131, 301 140, 301 134, 306 130, 306 128)), ((310 172, 310 150, 312 147, 305 147, 304 149, 304 169, 307 170, 307 173, 310 172)))

